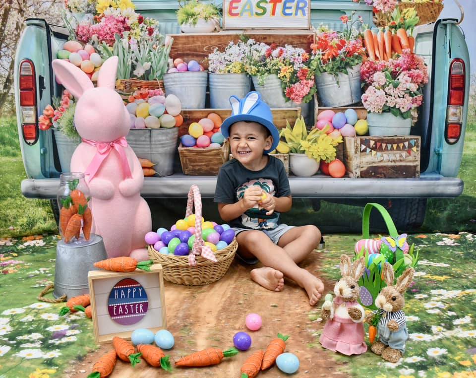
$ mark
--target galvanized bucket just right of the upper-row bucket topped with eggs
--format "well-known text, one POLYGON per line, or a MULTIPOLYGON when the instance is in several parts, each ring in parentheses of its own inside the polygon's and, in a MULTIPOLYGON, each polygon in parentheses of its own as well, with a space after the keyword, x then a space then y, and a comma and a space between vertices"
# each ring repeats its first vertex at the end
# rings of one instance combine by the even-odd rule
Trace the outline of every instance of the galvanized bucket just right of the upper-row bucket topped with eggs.
POLYGON ((243 98, 251 87, 251 78, 247 73, 208 72, 210 86, 210 107, 231 109, 230 96, 243 98))

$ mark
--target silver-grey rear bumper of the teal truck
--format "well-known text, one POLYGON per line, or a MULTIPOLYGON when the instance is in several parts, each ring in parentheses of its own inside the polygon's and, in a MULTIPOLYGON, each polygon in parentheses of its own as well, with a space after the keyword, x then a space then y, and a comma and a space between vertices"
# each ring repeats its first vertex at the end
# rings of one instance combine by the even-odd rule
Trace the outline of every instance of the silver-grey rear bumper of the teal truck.
MULTIPOLYGON (((204 198, 215 194, 216 176, 148 177, 141 195, 145 198, 184 198, 192 184, 204 198)), ((289 178, 296 198, 454 198, 463 192, 463 181, 438 174, 422 174, 418 179, 334 179, 325 177, 289 178)), ((60 179, 27 179, 21 192, 27 198, 56 198, 60 179)))

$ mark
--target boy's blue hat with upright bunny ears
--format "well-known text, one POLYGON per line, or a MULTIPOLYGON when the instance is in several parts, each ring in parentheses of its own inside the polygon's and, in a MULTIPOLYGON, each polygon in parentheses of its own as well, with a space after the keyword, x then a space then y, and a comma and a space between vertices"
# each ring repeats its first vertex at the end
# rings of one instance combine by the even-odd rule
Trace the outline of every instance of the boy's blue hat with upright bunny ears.
POLYGON ((273 113, 268 104, 261 101, 261 95, 258 92, 249 92, 244 98, 239 99, 236 96, 230 97, 232 105, 232 115, 223 121, 221 131, 225 138, 230 136, 230 127, 239 121, 252 121, 266 127, 273 137, 273 144, 269 150, 264 153, 268 154, 273 151, 279 143, 279 131, 273 124, 273 113))

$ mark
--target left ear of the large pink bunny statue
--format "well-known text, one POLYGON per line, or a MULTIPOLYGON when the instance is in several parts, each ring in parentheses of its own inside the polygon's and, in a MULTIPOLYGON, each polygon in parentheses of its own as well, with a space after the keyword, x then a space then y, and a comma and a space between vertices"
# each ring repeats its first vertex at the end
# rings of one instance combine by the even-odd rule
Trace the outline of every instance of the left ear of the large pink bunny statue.
POLYGON ((55 59, 52 65, 53 71, 61 84, 77 99, 88 89, 94 88, 88 75, 74 64, 55 59))

